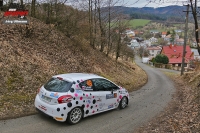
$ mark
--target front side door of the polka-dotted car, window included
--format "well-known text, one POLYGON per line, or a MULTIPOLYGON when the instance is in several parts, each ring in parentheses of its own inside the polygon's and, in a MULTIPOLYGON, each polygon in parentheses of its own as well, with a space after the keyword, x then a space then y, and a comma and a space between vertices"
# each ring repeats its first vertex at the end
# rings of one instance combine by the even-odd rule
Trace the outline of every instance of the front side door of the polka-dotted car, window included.
POLYGON ((94 91, 99 92, 101 102, 99 111, 110 110, 118 106, 118 87, 106 79, 92 79, 94 91))

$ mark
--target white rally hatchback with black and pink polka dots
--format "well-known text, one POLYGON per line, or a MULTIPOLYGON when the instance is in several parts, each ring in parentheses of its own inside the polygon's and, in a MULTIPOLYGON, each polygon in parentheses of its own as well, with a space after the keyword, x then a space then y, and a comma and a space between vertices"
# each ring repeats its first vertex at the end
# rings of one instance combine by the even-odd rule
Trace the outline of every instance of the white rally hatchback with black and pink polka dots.
POLYGON ((35 107, 57 121, 78 123, 83 117, 128 105, 128 91, 110 80, 86 73, 53 76, 38 89, 35 107))

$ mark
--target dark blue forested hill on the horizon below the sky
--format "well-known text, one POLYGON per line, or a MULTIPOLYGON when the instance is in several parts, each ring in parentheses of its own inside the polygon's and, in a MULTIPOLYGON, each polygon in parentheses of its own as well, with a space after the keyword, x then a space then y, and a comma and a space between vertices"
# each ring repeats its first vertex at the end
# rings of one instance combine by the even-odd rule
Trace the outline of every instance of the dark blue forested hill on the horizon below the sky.
POLYGON ((166 7, 124 7, 115 6, 112 10, 121 12, 129 15, 130 18, 134 19, 150 19, 150 20, 173 20, 173 21, 184 21, 186 10, 185 6, 166 6, 166 7))

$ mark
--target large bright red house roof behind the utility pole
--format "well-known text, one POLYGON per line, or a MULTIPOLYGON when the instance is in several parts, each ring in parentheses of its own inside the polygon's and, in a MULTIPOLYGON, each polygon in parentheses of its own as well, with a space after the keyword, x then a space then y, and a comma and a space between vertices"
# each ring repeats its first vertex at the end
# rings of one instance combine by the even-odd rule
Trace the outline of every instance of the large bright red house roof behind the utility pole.
MULTIPOLYGON (((194 59, 194 55, 188 45, 186 46, 186 51, 185 63, 188 63, 194 59)), ((163 46, 161 53, 169 58, 169 64, 182 63, 183 46, 172 46, 171 44, 169 46, 163 46)))

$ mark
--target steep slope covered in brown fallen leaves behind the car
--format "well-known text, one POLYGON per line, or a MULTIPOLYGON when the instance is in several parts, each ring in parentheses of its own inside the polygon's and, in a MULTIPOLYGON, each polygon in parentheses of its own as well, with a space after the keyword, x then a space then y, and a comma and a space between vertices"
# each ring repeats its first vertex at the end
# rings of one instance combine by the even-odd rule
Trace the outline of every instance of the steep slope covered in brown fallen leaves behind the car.
POLYGON ((37 89, 52 75, 96 73, 129 91, 147 76, 131 62, 114 61, 78 36, 63 33, 33 18, 29 25, 0 24, 0 119, 35 113, 37 89))

